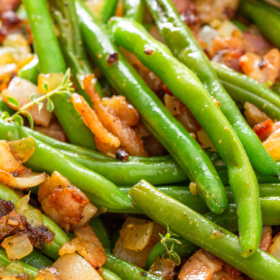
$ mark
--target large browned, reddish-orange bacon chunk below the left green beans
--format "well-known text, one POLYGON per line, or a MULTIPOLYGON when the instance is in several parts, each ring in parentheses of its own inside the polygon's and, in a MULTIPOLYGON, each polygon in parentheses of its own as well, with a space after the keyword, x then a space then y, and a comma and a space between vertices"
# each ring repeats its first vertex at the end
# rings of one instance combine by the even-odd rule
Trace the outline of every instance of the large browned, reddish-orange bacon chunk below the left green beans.
MULTIPOLYGON (((43 212, 67 232, 81 222, 85 207, 91 204, 83 192, 56 171, 39 186, 38 200, 43 212)), ((91 217, 97 212, 94 209, 91 217)))

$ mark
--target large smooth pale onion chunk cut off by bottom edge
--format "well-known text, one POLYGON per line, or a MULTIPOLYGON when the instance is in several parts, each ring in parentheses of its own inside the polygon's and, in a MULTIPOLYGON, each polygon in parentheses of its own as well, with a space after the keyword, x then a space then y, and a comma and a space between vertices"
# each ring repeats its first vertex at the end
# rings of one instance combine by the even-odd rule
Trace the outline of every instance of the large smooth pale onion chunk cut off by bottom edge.
POLYGON ((62 279, 67 280, 103 280, 98 272, 76 253, 65 254, 53 266, 62 279))

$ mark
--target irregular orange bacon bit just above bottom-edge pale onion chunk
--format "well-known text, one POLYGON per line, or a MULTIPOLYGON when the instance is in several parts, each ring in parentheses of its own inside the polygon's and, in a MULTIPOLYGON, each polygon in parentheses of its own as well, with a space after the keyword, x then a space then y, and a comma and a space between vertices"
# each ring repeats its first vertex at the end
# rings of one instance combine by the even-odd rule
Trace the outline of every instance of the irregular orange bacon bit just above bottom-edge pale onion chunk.
POLYGON ((107 257, 94 230, 89 225, 85 225, 74 229, 74 233, 76 238, 64 244, 59 250, 59 255, 78 252, 92 267, 102 272, 100 269, 105 264, 107 257))

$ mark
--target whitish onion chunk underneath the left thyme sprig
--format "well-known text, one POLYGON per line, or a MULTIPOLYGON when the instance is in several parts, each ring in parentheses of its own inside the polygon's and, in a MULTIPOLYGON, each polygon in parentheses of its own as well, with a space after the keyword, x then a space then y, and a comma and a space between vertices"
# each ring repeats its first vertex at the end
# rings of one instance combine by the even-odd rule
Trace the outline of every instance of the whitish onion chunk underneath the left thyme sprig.
MULTIPOLYGON (((15 77, 11 80, 8 89, 2 91, 1 96, 3 101, 7 103, 9 107, 18 110, 17 106, 8 103, 8 97, 15 98, 18 101, 20 108, 22 108, 24 105, 30 103, 30 96, 32 94, 35 95, 35 98, 42 96, 36 85, 20 77, 15 77)), ((48 126, 52 118, 52 113, 47 110, 47 100, 43 100, 42 103, 43 108, 41 111, 39 111, 37 104, 30 106, 26 111, 31 114, 36 124, 48 126)))

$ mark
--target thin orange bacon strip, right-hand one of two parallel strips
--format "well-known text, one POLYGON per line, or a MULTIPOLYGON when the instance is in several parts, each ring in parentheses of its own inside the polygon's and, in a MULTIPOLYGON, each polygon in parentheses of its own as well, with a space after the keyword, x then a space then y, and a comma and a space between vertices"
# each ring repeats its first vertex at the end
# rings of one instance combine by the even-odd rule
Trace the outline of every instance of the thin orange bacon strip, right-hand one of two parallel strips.
MULTIPOLYGON (((102 124, 118 137, 122 147, 124 147, 129 154, 134 156, 149 156, 143 147, 142 140, 137 137, 135 131, 130 126, 123 123, 114 110, 103 105, 102 99, 94 89, 92 78, 92 75, 88 75, 84 79, 84 88, 93 102, 94 110, 102 124)), ((95 135, 99 138, 98 134, 95 135)))

